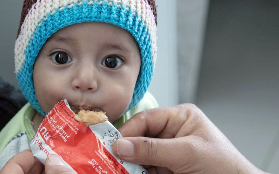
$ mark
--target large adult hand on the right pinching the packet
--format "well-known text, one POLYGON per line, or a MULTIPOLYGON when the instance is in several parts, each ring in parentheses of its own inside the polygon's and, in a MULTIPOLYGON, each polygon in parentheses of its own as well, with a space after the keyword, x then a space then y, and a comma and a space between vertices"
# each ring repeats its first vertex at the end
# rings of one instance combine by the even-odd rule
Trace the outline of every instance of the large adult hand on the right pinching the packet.
POLYGON ((113 144, 114 154, 150 174, 264 173, 193 104, 140 112, 119 131, 125 138, 113 144))

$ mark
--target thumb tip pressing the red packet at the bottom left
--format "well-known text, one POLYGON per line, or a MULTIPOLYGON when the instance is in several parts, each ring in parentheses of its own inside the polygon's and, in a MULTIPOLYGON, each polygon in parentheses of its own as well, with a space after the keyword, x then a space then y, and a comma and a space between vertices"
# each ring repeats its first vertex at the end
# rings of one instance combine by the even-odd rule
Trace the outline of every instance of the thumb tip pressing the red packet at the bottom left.
POLYGON ((45 173, 76 174, 73 169, 66 167, 62 159, 55 154, 48 155, 45 163, 45 173))

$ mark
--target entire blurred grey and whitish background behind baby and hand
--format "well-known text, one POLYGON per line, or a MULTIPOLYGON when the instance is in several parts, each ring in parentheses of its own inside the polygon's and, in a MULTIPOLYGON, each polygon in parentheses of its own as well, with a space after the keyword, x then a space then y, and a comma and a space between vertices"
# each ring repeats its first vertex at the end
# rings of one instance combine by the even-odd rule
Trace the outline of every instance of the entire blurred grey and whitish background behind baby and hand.
MULTIPOLYGON (((12 85, 22 4, 0 6, 0 75, 12 85)), ((158 60, 149 91, 159 105, 196 104, 249 161, 279 173, 279 1, 156 5, 158 60)))

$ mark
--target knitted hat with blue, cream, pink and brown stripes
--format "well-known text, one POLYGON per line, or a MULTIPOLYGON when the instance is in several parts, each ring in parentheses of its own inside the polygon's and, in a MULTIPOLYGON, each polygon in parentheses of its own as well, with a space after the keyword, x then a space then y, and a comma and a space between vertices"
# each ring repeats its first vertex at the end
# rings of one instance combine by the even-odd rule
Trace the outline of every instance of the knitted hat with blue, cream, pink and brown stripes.
POLYGON ((133 35, 140 47, 141 69, 127 110, 144 96, 156 61, 154 0, 25 0, 15 43, 15 73, 25 98, 42 115, 46 113, 36 99, 33 83, 35 59, 53 33, 89 21, 111 23, 133 35))

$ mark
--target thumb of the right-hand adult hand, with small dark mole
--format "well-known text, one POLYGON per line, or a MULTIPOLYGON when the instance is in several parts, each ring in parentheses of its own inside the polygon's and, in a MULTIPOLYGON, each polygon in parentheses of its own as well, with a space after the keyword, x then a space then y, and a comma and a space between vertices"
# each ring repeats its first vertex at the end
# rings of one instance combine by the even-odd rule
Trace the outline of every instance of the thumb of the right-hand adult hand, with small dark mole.
POLYGON ((142 165, 180 168, 189 152, 185 151, 189 140, 186 137, 157 139, 148 137, 125 137, 113 144, 113 153, 122 160, 142 165), (186 146, 186 148, 185 148, 186 146), (175 165, 175 166, 174 166, 175 165))

